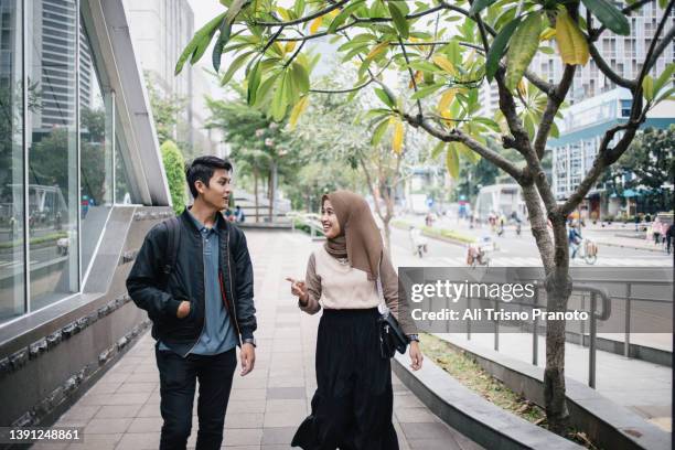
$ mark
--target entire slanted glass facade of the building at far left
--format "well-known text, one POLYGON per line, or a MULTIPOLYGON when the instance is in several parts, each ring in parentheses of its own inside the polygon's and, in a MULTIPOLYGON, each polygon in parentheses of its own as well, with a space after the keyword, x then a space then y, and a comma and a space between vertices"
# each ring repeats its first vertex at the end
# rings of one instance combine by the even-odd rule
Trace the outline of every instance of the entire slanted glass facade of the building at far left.
POLYGON ((78 0, 0 0, 0 324, 81 292, 138 201, 89 22, 78 0))

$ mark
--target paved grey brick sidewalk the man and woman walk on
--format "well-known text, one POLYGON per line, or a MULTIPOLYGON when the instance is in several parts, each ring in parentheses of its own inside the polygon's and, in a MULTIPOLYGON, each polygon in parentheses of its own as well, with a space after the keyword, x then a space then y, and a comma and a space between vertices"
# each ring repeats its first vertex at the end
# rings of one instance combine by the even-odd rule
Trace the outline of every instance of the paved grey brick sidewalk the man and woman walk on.
MULTIPOLYGON (((258 349, 256 367, 235 373, 223 447, 238 450, 288 449, 307 417, 315 389, 314 350, 320 314, 296 306, 285 277, 303 277, 308 256, 320 243, 298 233, 246 232, 256 280, 258 349)), ((401 449, 469 450, 480 447, 431 414, 394 377, 394 424, 401 449)), ((149 333, 57 422, 82 426, 85 442, 33 448, 157 449, 162 419, 159 373, 149 333)), ((196 400, 192 435, 196 441, 196 400)))

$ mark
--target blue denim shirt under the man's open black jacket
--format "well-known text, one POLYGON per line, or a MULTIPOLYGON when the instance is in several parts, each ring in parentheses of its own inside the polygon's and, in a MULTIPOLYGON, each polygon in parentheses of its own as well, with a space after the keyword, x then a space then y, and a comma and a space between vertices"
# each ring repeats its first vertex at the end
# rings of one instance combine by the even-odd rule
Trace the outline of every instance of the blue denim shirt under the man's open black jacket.
MULTIPOLYGON (((206 308, 204 311, 204 329, 200 340, 190 351, 197 355, 217 355, 237 345, 235 330, 232 326, 229 314, 221 297, 221 285, 218 280, 218 248, 219 237, 215 226, 207 228, 195 216, 190 213, 202 235, 204 248, 204 299, 206 308)), ((161 341, 159 350, 171 350, 161 341)))

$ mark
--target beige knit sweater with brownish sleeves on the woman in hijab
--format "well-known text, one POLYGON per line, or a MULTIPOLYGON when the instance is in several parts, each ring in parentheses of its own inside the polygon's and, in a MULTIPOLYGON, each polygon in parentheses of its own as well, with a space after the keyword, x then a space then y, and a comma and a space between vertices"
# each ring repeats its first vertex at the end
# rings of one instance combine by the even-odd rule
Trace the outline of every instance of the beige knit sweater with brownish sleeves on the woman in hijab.
MULTIPOLYGON (((382 290, 387 307, 398 319, 404 333, 417 333, 408 306, 398 302, 398 276, 386 255, 382 260, 381 272, 382 290)), ((332 257, 323 246, 310 255, 304 282, 309 300, 304 306, 299 301, 298 306, 309 314, 315 314, 321 307, 367 309, 379 304, 376 281, 368 280, 365 271, 332 257)))

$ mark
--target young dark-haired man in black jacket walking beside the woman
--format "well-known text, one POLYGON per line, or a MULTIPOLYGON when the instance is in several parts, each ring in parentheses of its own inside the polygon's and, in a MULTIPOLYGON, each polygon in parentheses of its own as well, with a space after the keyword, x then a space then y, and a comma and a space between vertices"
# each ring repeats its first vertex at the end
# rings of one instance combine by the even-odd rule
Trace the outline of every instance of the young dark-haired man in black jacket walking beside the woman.
POLYGON ((242 347, 242 376, 255 363, 253 267, 244 233, 221 214, 232 193, 232 165, 202 157, 185 175, 193 206, 178 219, 150 229, 127 289, 133 302, 148 311, 157 340, 164 419, 160 449, 185 448, 195 379, 200 382, 196 449, 219 449, 236 346, 242 347), (176 247, 174 262, 168 255, 172 247, 176 247))

